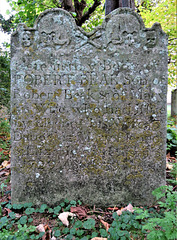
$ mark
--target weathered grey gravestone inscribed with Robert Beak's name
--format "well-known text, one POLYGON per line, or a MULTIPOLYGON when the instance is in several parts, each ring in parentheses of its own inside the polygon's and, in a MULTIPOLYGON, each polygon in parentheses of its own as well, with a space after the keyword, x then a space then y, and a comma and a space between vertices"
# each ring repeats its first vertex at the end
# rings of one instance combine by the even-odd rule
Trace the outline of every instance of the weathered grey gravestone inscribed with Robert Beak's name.
POLYGON ((12 202, 151 204, 165 184, 160 25, 120 8, 86 33, 52 9, 11 46, 12 202))

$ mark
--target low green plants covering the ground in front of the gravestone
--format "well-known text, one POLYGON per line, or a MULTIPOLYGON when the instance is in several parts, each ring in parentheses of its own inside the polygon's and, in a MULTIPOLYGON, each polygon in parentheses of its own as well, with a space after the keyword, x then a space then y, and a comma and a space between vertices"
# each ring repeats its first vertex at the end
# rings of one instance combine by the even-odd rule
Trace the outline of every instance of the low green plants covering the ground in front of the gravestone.
MULTIPOLYGON (((101 225, 98 225, 93 218, 85 221, 74 218, 69 219, 69 227, 65 227, 59 221, 58 226, 53 228, 52 235, 59 239, 71 240, 92 239, 94 237, 103 237, 108 240, 175 239, 174 236, 177 234, 176 193, 173 192, 172 186, 162 186, 155 189, 153 195, 158 201, 160 211, 156 211, 154 208, 137 208, 134 213, 124 211, 120 216, 114 212, 113 222, 108 232, 101 228, 101 225)), ((57 212, 58 215, 63 212, 64 208, 67 208, 67 205, 71 204, 78 206, 76 201, 63 201, 54 208, 50 208, 46 204, 42 204, 40 208, 32 208, 31 203, 13 205, 5 202, 1 203, 2 209, 9 208, 12 212, 9 213, 8 217, 0 218, 0 239, 41 239, 44 233, 37 234, 35 232, 36 228, 30 225, 33 221, 32 215, 34 212, 39 212, 43 216, 50 215, 50 212, 51 214, 57 212), (22 215, 19 219, 15 211, 21 212, 22 215)))

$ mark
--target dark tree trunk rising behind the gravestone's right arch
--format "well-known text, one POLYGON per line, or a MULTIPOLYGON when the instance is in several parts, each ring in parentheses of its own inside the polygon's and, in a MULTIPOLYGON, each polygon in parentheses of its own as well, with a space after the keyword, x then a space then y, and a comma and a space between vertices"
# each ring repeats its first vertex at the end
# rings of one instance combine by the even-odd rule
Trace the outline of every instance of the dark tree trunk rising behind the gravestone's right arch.
POLYGON ((129 7, 135 9, 134 0, 106 0, 105 4, 105 15, 108 15, 116 8, 129 7))

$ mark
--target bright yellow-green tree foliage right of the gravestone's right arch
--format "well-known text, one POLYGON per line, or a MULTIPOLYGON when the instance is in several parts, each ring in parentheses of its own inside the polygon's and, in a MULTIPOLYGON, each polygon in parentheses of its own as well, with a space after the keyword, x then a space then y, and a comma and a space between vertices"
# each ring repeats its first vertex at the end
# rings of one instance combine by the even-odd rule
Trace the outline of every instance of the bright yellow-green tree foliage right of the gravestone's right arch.
POLYGON ((168 83, 171 86, 176 85, 176 3, 175 0, 161 0, 158 4, 153 5, 152 1, 143 1, 139 8, 140 14, 145 21, 146 27, 151 27, 155 22, 159 22, 162 29, 168 35, 168 52, 169 52, 169 66, 168 66, 168 83), (146 5, 145 5, 146 3, 146 5))

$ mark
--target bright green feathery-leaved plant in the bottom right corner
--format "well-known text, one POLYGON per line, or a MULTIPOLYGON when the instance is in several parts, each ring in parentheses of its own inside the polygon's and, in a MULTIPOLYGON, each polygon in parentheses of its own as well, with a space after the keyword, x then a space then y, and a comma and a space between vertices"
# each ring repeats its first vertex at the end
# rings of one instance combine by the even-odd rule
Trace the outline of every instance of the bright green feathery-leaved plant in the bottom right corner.
POLYGON ((174 240, 177 236, 176 199, 177 193, 172 186, 162 186, 153 191, 158 204, 164 209, 162 215, 150 216, 148 212, 139 212, 136 219, 146 219, 143 230, 147 230, 147 239, 151 240, 174 240), (160 201, 162 199, 162 201, 160 201))

